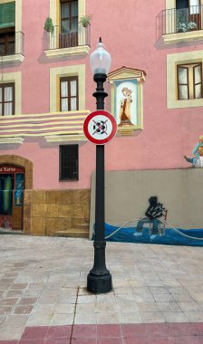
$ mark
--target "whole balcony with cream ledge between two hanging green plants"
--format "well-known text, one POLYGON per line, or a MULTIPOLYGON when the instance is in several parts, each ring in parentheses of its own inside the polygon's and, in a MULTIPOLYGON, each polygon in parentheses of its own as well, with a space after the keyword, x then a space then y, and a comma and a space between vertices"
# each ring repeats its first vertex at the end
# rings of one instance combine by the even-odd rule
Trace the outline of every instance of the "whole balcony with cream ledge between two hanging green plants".
POLYGON ((90 45, 90 24, 78 24, 78 31, 69 33, 61 33, 60 26, 54 26, 53 33, 44 30, 44 53, 48 58, 87 55, 90 45))

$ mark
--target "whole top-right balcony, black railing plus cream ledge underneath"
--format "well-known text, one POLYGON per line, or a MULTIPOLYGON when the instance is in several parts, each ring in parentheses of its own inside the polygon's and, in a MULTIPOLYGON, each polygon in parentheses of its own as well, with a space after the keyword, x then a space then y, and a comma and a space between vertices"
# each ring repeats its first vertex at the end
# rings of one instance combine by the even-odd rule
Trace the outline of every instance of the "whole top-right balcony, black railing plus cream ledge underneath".
POLYGON ((162 37, 165 43, 180 43, 203 39, 203 6, 189 6, 161 12, 162 37))

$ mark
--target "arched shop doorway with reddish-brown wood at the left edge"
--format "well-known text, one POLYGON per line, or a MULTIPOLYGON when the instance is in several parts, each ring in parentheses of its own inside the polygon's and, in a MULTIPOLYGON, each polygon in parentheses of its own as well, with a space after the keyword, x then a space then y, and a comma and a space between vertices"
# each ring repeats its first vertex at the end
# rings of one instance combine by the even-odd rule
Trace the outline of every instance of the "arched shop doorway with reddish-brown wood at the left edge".
POLYGON ((23 229, 24 168, 0 165, 0 227, 23 229))

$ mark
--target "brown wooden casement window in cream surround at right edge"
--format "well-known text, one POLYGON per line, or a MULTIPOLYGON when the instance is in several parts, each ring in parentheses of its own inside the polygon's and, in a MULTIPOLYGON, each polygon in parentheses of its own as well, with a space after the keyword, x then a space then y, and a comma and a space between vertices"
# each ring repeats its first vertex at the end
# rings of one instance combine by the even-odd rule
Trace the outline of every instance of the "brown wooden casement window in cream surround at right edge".
POLYGON ((179 64, 178 100, 193 100, 202 97, 202 63, 179 64))

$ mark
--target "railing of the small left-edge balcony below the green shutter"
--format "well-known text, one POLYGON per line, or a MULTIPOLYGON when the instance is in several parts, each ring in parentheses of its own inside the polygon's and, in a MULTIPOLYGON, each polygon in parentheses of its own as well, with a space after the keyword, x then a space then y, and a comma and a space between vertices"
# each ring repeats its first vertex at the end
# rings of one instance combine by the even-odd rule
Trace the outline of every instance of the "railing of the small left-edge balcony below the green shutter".
POLYGON ((24 55, 24 33, 21 31, 16 33, 1 33, 0 56, 14 54, 24 55))

